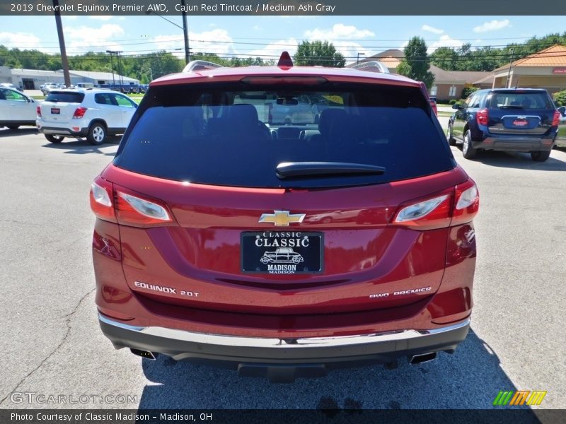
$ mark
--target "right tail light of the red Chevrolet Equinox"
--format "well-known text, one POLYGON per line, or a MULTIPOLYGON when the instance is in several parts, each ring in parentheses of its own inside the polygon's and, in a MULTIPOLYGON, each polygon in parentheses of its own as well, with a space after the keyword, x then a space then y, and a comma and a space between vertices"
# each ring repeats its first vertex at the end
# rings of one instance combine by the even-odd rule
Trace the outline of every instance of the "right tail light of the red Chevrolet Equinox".
POLYGON ((393 223, 415 230, 432 230, 469 223, 478 214, 480 195, 473 180, 445 190, 434 197, 402 204, 393 223))

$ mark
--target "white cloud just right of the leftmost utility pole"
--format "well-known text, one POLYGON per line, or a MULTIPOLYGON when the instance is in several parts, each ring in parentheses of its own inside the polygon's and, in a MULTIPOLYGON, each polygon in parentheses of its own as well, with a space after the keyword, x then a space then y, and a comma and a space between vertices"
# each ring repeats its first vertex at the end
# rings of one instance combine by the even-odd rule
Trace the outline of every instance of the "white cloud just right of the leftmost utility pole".
POLYGON ((74 53, 88 50, 120 50, 122 47, 112 38, 125 34, 124 29, 115 23, 105 23, 98 28, 80 26, 64 28, 67 49, 74 53))

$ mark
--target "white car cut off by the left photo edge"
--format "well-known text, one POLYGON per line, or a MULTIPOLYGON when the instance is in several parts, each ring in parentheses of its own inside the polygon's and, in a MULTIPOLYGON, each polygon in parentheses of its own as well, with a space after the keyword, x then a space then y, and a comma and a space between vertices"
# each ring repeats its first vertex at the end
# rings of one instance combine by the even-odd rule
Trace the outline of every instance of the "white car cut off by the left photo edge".
POLYGON ((0 87, 0 127, 18 129, 21 125, 35 125, 37 102, 12 88, 0 87))

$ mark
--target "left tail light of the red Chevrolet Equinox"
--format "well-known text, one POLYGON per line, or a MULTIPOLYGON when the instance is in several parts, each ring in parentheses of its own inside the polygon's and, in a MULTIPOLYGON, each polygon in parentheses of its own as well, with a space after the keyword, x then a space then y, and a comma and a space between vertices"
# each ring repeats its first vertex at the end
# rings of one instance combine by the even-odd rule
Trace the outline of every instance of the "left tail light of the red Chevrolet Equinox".
POLYGON ((166 204, 96 177, 91 186, 91 209, 102 219, 121 225, 148 227, 173 223, 166 204))

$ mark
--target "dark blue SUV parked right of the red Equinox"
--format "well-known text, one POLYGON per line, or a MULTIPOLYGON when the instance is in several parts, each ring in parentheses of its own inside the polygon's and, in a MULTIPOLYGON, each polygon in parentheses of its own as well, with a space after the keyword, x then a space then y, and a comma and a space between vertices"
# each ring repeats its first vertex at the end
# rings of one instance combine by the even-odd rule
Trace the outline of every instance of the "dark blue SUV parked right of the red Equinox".
POLYGON ((560 112, 548 92, 539 88, 478 90, 456 110, 446 138, 463 143, 471 159, 480 150, 530 152, 536 161, 547 160, 558 131, 560 112))

